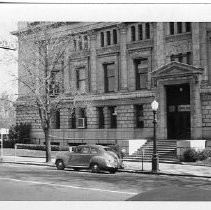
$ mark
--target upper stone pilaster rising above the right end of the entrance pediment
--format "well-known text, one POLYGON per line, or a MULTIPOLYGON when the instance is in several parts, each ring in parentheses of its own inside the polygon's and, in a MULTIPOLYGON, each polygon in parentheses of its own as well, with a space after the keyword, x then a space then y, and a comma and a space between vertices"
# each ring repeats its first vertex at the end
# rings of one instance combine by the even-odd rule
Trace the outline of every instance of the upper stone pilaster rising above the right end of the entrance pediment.
POLYGON ((200 28, 199 23, 192 23, 193 66, 200 67, 200 28))

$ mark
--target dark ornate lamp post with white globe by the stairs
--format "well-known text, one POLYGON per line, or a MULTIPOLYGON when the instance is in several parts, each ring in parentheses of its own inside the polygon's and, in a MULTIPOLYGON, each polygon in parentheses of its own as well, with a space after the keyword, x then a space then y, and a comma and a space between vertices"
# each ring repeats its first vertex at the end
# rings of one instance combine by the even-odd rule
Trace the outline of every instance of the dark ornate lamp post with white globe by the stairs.
POLYGON ((158 154, 157 154, 157 141, 156 141, 156 114, 158 110, 158 102, 154 100, 151 103, 152 111, 153 111, 153 124, 154 124, 154 135, 153 135, 153 155, 152 155, 152 172, 157 173, 159 170, 159 159, 158 159, 158 154))

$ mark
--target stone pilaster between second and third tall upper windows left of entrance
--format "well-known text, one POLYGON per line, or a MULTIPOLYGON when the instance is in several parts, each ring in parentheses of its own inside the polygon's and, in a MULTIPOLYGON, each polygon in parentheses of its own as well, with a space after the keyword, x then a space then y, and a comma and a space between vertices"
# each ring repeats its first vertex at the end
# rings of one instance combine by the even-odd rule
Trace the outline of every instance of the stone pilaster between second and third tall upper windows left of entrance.
POLYGON ((96 93, 97 91, 97 65, 96 65, 96 47, 97 47, 97 34, 96 32, 89 31, 90 37, 90 91, 96 93))

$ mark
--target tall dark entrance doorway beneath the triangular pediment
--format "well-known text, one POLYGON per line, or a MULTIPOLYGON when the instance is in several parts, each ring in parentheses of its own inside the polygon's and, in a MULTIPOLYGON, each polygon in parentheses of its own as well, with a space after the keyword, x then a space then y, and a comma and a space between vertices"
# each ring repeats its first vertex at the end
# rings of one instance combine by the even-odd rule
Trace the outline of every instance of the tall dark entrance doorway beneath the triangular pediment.
POLYGON ((190 85, 166 86, 168 139, 190 139, 190 85))

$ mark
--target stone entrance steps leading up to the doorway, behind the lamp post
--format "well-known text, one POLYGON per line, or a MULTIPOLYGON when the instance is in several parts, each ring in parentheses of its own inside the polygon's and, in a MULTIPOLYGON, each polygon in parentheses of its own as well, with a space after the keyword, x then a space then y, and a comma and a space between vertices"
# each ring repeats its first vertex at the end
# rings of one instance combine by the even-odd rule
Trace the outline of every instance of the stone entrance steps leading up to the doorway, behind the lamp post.
MULTIPOLYGON (((157 140, 157 153, 160 162, 178 162, 176 157, 176 140, 157 140)), ((132 155, 128 156, 130 160, 151 161, 153 154, 153 141, 148 140, 142 147, 140 147, 132 155), (144 153, 143 153, 144 152, 144 153)))

